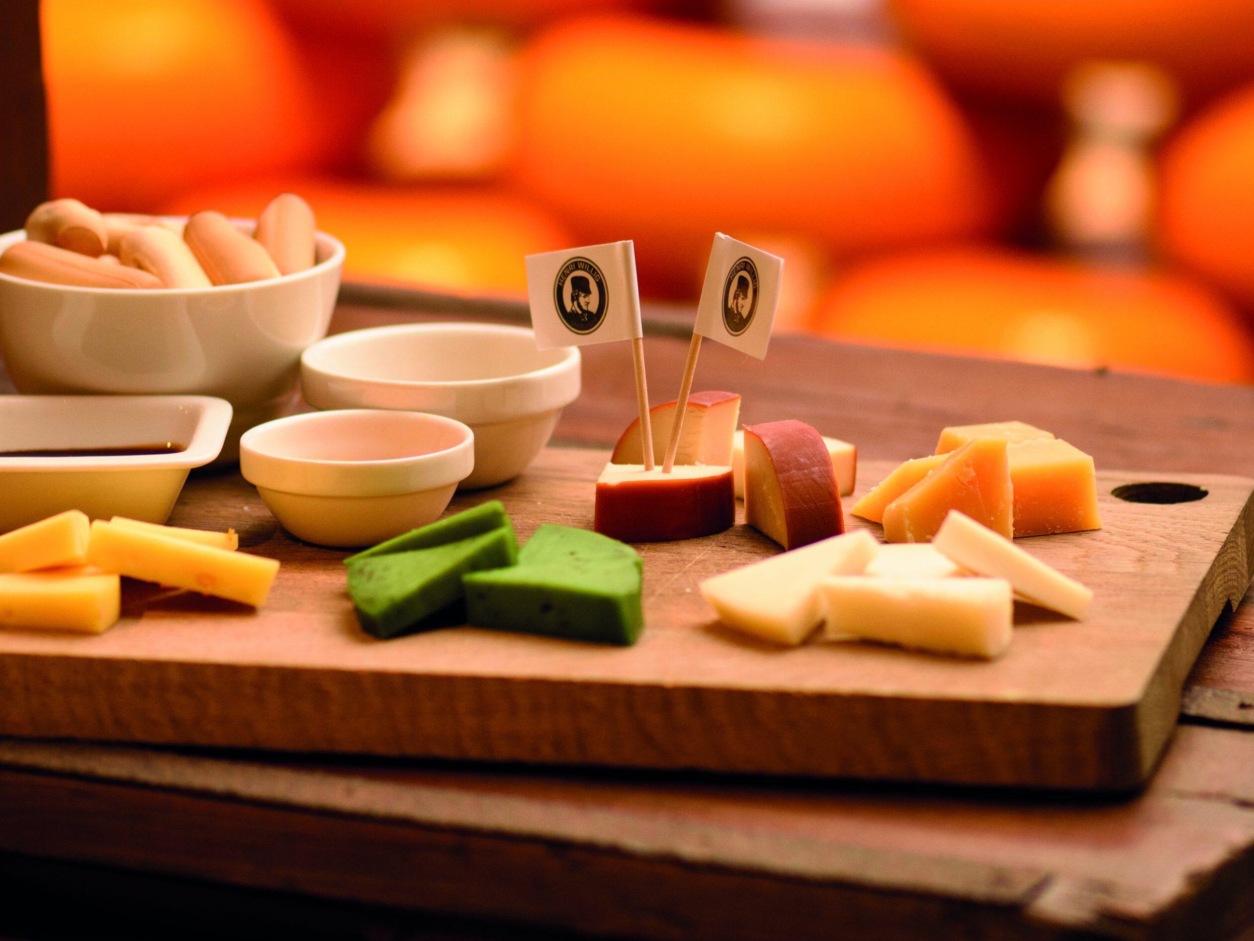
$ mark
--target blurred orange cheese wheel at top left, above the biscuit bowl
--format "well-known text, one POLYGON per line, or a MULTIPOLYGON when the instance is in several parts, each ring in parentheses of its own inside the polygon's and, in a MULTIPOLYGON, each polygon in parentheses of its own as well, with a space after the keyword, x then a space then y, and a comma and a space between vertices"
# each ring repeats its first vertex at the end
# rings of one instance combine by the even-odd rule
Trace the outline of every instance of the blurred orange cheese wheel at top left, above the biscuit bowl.
POLYGON ((261 0, 44 0, 53 188, 145 211, 307 163, 317 88, 261 0))

